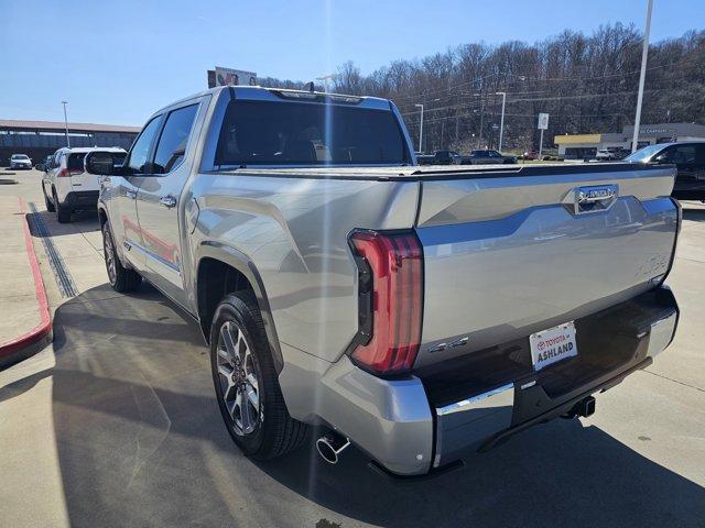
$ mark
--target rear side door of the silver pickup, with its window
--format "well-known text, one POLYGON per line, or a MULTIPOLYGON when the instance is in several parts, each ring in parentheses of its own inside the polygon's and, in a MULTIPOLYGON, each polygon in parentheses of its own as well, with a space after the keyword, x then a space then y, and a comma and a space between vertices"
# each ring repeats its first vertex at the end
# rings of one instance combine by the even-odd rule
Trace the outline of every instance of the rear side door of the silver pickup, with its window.
POLYGON ((147 278, 177 304, 186 307, 180 218, 180 202, 191 165, 184 163, 198 102, 172 109, 156 142, 153 175, 143 178, 138 190, 138 216, 145 255, 147 278))

